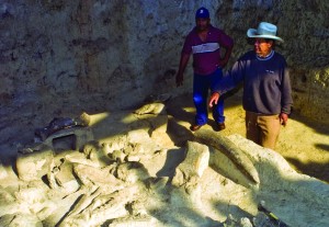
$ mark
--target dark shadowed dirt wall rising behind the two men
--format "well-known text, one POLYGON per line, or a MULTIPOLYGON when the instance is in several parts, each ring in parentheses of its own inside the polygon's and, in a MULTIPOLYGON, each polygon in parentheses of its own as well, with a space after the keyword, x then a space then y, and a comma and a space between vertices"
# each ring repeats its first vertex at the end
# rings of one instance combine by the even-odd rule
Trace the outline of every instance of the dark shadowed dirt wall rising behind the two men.
MULTIPOLYGON (((174 73, 194 12, 236 42, 230 65, 251 48, 249 27, 279 26, 276 46, 291 68, 294 110, 329 123, 329 2, 327 1, 0 1, 1 143, 30 118, 30 129, 54 116, 126 109, 151 93, 182 89, 174 73)), ((27 128, 27 129, 29 129, 27 128)))

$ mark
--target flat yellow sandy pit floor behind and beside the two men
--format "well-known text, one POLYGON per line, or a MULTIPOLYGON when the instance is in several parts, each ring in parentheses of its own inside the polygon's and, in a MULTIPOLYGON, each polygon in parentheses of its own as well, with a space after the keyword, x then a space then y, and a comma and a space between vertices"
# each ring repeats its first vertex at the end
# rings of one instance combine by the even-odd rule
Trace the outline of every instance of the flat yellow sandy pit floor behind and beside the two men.
MULTIPOLYGON (((175 143, 183 143, 191 134, 189 127, 194 121, 195 109, 192 94, 186 93, 168 102, 168 112, 172 116, 169 133, 175 143)), ((241 93, 228 95, 225 101, 226 129, 220 134, 246 136, 245 111, 241 106, 241 93)), ((205 128, 212 128, 214 121, 205 128)), ((321 181, 329 182, 329 125, 307 120, 293 112, 286 127, 282 127, 276 151, 297 171, 321 181)))

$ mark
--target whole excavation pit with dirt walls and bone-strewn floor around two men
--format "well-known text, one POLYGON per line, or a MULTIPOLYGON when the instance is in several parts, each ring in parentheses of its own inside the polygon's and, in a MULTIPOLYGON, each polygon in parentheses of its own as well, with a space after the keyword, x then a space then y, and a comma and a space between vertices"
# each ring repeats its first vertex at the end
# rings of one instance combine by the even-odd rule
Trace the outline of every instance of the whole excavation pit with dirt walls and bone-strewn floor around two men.
POLYGON ((328 10, 297 0, 0 2, 1 226, 270 225, 261 201, 290 226, 328 226, 328 10), (239 91, 218 134, 232 152, 207 143, 212 120, 203 143, 189 130, 192 67, 180 89, 174 75, 201 4, 235 39, 228 67, 251 48, 249 27, 277 24, 294 112, 275 151, 245 139, 239 91), (35 138, 83 112, 88 126, 35 138))

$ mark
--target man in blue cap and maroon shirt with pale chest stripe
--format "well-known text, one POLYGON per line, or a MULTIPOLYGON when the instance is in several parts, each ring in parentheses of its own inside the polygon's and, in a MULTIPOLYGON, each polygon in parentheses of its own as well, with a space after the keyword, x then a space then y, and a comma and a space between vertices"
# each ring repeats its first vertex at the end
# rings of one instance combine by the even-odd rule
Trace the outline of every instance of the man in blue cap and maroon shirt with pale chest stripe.
MULTIPOLYGON (((177 87, 183 84, 183 73, 191 54, 193 55, 193 101, 196 109, 195 122, 191 130, 197 130, 207 123, 207 95, 208 90, 222 79, 222 69, 227 65, 234 42, 222 30, 211 24, 209 12, 200 8, 195 13, 196 26, 185 38, 181 53, 179 71, 175 77, 177 87), (220 48, 225 54, 220 56, 220 48)), ((213 106, 213 117, 216 122, 216 130, 225 128, 224 100, 213 106)))

